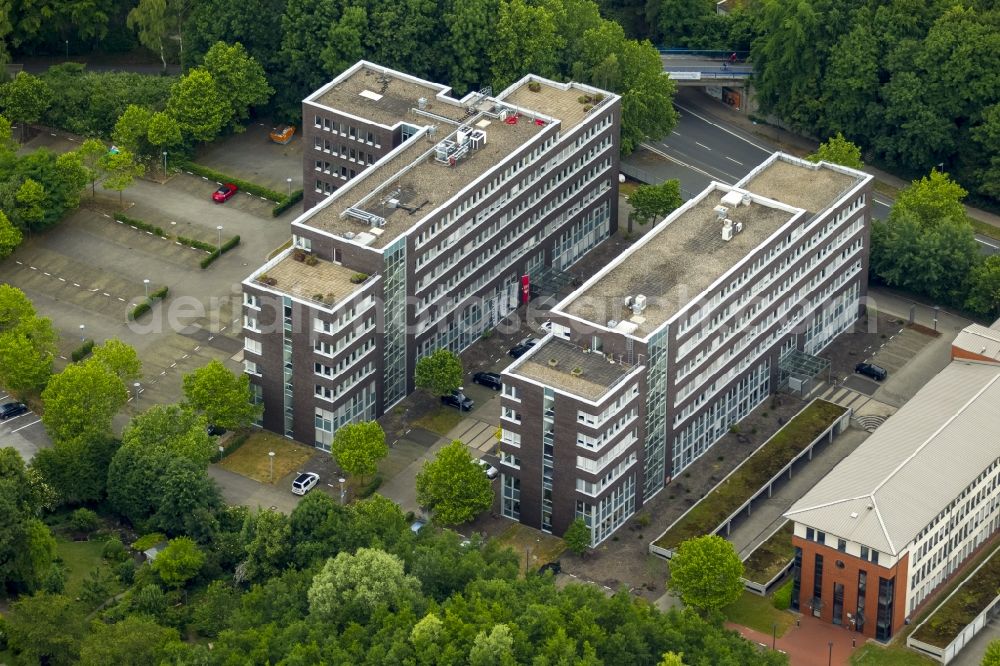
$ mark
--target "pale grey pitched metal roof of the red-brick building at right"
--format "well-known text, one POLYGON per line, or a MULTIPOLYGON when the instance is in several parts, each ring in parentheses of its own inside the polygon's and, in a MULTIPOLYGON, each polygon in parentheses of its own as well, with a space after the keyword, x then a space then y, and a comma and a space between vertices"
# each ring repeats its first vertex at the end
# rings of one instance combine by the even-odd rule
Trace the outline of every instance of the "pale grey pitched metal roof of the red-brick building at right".
POLYGON ((955 361, 785 516, 898 555, 998 457, 1000 366, 955 361))

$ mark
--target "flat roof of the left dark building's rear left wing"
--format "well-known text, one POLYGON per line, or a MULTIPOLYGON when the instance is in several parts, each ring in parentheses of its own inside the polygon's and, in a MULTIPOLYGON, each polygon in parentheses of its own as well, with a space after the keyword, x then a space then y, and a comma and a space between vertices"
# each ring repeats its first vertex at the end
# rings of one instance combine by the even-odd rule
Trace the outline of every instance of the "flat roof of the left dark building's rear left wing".
POLYGON ((446 101, 437 96, 447 90, 448 86, 363 63, 343 79, 335 80, 329 89, 307 99, 392 127, 403 120, 427 123, 427 116, 413 111, 419 107, 418 100, 423 98, 426 111, 457 122, 466 115, 466 110, 457 100, 449 103, 452 98, 446 101))

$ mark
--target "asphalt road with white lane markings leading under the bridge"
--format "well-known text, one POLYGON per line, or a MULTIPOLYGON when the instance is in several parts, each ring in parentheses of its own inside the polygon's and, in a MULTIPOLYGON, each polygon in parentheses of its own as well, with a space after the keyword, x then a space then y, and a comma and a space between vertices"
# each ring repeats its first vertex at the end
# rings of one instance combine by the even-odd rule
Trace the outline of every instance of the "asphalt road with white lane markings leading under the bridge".
MULTIPOLYGON (((685 199, 701 192, 713 180, 728 185, 746 176, 771 153, 778 150, 760 137, 718 122, 696 109, 674 105, 679 114, 677 127, 662 141, 644 144, 672 165, 665 167, 667 178, 677 178, 685 199)), ((872 214, 877 220, 889 215, 892 199, 876 194, 872 214)), ((1000 242, 976 235, 985 254, 1000 253, 1000 242)))

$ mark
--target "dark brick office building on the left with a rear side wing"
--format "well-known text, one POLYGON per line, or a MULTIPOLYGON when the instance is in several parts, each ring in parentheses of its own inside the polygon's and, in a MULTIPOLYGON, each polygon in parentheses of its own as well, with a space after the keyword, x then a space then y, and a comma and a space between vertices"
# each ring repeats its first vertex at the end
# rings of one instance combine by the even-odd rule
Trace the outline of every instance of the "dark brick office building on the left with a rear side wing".
POLYGON ((266 428, 328 447, 617 228, 618 96, 533 76, 448 93, 359 62, 303 103, 307 210, 244 281, 266 428))

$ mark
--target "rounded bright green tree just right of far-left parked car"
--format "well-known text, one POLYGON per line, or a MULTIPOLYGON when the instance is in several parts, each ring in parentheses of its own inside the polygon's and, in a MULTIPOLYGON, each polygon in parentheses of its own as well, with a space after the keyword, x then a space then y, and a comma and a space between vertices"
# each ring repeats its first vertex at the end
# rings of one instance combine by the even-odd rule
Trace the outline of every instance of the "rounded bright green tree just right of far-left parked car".
POLYGON ((112 434, 111 420, 128 402, 121 379, 101 363, 66 366, 42 392, 42 423, 57 442, 94 441, 112 434))

